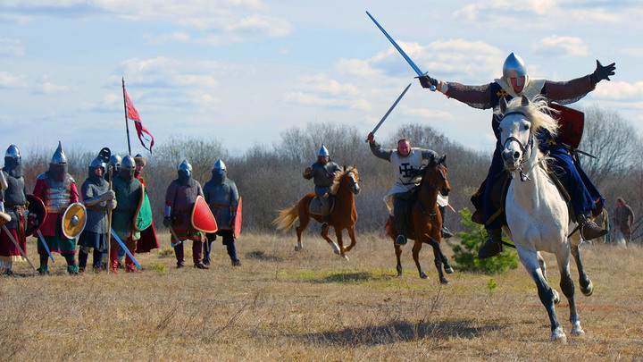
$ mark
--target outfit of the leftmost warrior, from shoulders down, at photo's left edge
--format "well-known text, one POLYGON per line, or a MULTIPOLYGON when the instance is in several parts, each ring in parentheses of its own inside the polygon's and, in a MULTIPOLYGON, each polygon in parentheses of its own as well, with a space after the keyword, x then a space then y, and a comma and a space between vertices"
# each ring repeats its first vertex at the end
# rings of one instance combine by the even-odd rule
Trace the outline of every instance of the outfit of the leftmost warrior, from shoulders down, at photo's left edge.
MULTIPOLYGON (((25 219, 27 212, 25 204, 27 203, 27 192, 25 191, 24 178, 21 172, 14 172, 4 167, 2 170, 6 178, 8 188, 4 191, 0 189, 0 201, 4 202, 4 212, 11 216, 11 221, 4 223, 7 230, 18 242, 22 250, 27 251, 27 239, 25 237, 25 219)), ((16 262, 23 261, 20 250, 16 248, 13 241, 9 238, 6 231, 0 232, 0 261, 16 262)))

